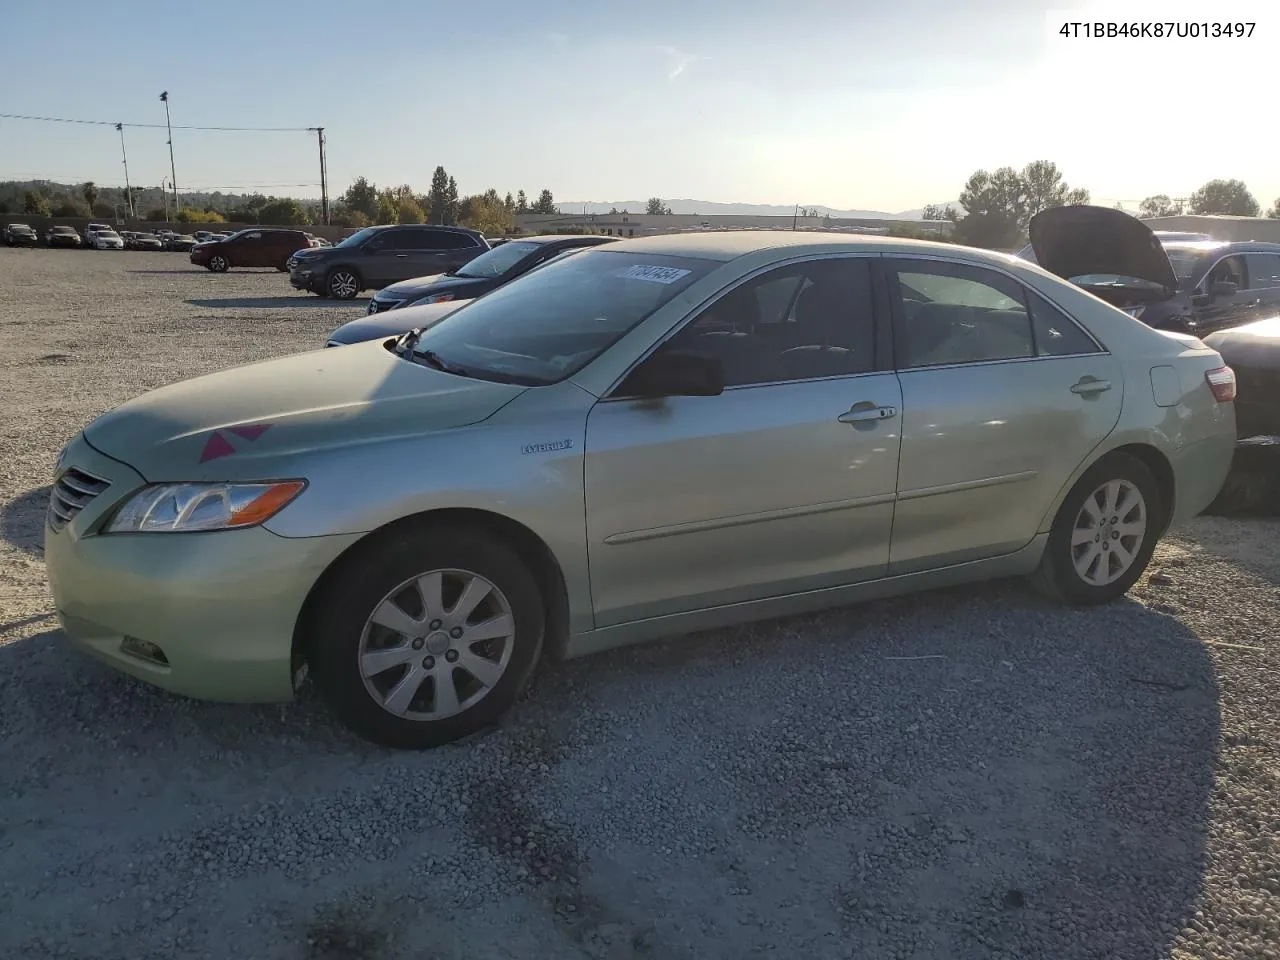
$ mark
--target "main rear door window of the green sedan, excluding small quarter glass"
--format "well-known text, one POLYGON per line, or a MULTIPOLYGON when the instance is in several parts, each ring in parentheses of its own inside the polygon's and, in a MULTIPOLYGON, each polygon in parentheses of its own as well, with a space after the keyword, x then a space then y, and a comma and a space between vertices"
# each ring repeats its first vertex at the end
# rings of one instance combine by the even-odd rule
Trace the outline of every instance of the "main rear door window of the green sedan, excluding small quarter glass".
POLYGON ((983 364, 1036 356, 1021 287, 968 264, 899 261, 899 366, 983 364))

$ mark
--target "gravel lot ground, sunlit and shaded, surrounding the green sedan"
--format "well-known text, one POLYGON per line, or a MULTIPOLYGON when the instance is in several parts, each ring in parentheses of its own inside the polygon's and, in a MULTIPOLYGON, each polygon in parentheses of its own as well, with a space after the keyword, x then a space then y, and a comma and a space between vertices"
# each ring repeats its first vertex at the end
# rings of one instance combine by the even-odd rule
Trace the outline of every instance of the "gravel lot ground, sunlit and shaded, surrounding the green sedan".
POLYGON ((0 250, 0 956, 1277 957, 1280 524, 1107 609, 993 585, 554 664, 426 754, 68 650, 47 479, 146 389, 361 305, 0 250))

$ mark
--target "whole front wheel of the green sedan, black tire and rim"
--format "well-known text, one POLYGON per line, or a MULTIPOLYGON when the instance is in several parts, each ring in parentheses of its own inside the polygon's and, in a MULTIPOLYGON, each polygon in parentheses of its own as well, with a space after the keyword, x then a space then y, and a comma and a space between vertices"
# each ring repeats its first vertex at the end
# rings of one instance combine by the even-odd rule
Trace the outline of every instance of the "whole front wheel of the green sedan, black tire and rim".
POLYGON ((488 534, 406 526, 374 540, 330 577, 307 621, 311 675, 342 722, 375 744, 422 750, 484 730, 515 703, 538 663, 545 630, 538 581, 515 550, 488 534), (438 605, 424 604, 420 581, 438 605), (468 626, 451 627, 466 582, 475 585, 472 598, 483 598, 461 621, 468 626), (375 614, 401 630, 374 623, 375 614), (485 623, 493 630, 477 635, 485 623), (460 628, 476 639, 445 632, 460 628), (453 703, 439 701, 442 681, 453 687, 453 703))

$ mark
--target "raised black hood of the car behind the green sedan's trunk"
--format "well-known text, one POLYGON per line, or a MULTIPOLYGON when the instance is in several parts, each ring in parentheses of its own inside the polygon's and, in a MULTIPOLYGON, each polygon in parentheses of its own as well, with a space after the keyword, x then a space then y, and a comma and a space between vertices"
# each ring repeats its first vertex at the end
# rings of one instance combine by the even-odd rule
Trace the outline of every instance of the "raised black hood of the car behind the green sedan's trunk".
POLYGON ((1160 239, 1142 220, 1105 206, 1059 206, 1032 218, 1036 262, 1062 279, 1110 274, 1147 280, 1172 296, 1178 276, 1160 239))

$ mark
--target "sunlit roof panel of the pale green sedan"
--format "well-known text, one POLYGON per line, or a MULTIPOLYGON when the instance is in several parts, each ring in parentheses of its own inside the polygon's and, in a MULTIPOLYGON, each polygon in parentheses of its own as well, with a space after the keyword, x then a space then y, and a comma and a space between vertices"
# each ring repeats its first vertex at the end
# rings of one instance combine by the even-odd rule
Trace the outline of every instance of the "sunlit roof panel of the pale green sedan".
POLYGON ((989 250, 961 247, 955 243, 937 241, 906 239, 900 237, 881 237, 874 234, 824 233, 819 230, 724 230, 717 233, 667 233, 655 237, 636 237, 608 244, 611 251, 653 253, 657 256, 687 256, 701 260, 736 260, 748 253, 764 250, 790 248, 796 253, 858 251, 877 253, 900 253, 911 256, 920 253, 955 255, 982 259, 1002 264, 1011 259, 989 250))

